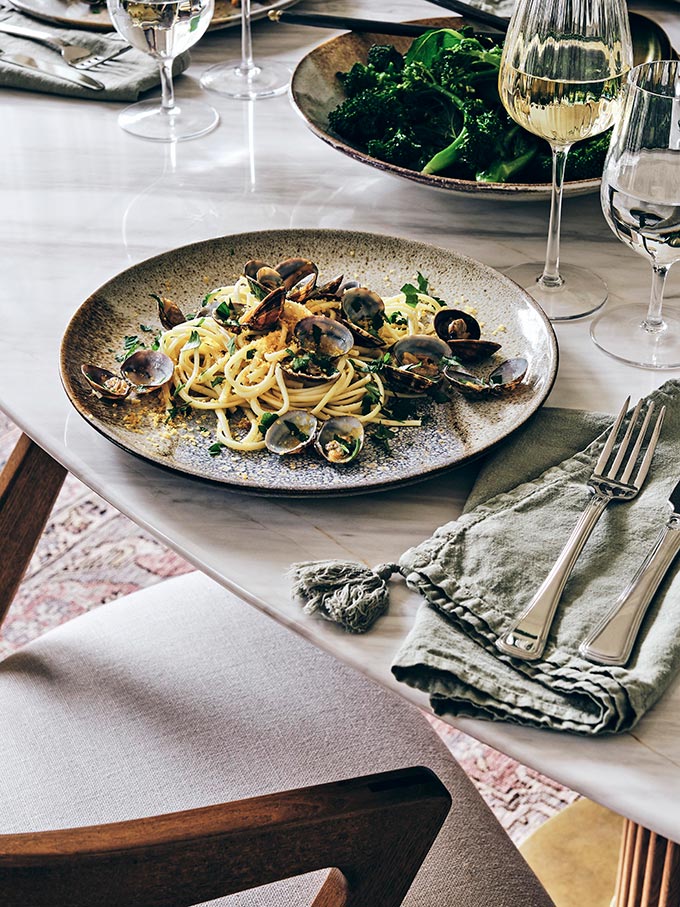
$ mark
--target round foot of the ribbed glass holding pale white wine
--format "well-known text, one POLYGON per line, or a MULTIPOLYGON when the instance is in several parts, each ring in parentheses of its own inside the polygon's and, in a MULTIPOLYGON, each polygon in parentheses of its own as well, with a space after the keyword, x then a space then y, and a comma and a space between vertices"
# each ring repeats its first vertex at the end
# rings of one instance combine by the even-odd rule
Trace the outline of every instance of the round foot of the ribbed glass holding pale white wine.
POLYGON ((541 283, 542 262, 515 265, 505 273, 533 296, 551 321, 585 318, 607 300, 607 284, 588 268, 560 265, 562 283, 558 287, 541 283))

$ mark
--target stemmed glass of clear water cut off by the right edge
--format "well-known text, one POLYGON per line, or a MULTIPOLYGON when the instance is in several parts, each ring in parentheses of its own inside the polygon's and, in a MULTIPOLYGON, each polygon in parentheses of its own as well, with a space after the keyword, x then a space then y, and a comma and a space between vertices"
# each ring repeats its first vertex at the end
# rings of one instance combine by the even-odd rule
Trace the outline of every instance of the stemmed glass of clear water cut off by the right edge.
POLYGON ((649 258, 649 305, 607 308, 595 343, 643 368, 680 368, 680 314, 662 312, 666 275, 680 259, 680 63, 636 66, 625 89, 602 177, 602 210, 620 240, 649 258))

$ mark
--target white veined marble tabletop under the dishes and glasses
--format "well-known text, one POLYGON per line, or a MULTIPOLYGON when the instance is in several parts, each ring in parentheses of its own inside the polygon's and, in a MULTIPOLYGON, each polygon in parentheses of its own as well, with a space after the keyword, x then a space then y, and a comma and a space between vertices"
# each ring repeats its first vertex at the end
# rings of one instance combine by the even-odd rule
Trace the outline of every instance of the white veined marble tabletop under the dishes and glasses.
MULTIPOLYGON (((638 4, 642 7, 642 4, 638 4)), ((673 2, 646 4, 680 46, 673 2)), ((301 10, 367 15, 358 0, 303 0, 301 10)), ((382 0, 372 17, 433 14, 425 2, 382 0)), ((328 32, 269 22, 254 28, 255 56, 294 66, 328 32)), ((206 36, 177 81, 202 94, 208 64, 239 53, 237 30, 206 36)), ((72 313, 120 270, 188 242, 272 227, 352 228, 392 233, 459 250, 497 268, 543 255, 547 206, 435 194, 337 154, 307 131, 287 97, 255 103, 210 96, 222 121, 201 139, 170 148, 134 139, 120 109, 95 100, 5 90, 0 97, 2 279, 0 406, 52 456, 117 508, 252 605, 315 644, 398 689, 391 658, 418 601, 405 592, 379 628, 353 637, 301 614, 285 573, 305 558, 367 564, 392 560, 460 510, 474 466, 400 491, 360 498, 294 501, 235 494, 163 472, 127 455, 71 408, 59 382, 58 350, 72 313)), ((646 298, 649 266, 619 243, 596 195, 564 205, 565 256, 608 281, 614 302, 646 298)), ((678 306, 680 271, 669 280, 678 306)), ((626 367, 600 353, 588 322, 558 326, 555 406, 615 411, 680 372, 626 367)), ((254 641, 253 644, 256 644, 254 641)), ((621 814, 680 841, 680 689, 635 729, 586 740, 482 721, 459 726, 525 764, 621 814)))

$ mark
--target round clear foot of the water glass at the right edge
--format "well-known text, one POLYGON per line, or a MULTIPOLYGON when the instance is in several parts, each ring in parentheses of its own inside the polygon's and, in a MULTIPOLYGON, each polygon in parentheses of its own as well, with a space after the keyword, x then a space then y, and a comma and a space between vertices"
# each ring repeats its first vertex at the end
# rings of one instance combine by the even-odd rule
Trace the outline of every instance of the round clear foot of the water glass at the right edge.
POLYGON ((643 303, 606 309, 590 326, 590 336, 614 359, 638 368, 680 368, 680 316, 664 313, 664 328, 644 328, 647 306, 643 303))

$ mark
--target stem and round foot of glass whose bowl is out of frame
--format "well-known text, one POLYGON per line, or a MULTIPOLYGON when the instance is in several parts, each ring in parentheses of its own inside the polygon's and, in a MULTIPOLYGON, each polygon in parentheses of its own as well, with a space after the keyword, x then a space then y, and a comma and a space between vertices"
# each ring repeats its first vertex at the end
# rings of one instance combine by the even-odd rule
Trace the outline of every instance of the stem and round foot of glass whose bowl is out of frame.
POLYGON ((255 64, 250 0, 241 0, 241 59, 210 66, 201 76, 201 85, 228 98, 256 101, 283 94, 289 82, 290 70, 282 63, 255 64))

